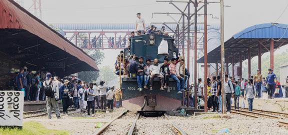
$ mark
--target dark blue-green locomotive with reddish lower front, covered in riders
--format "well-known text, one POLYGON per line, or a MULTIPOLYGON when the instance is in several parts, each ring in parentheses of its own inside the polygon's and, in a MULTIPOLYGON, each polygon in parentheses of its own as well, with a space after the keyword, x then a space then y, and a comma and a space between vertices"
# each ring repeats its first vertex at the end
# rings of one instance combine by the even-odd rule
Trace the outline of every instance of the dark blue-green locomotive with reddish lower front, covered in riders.
MULTIPOLYGON (((137 55, 147 58, 154 58, 162 63, 167 56, 169 59, 178 56, 178 48, 171 36, 159 34, 143 34, 131 37, 130 48, 125 48, 124 55, 137 55), (168 43, 168 54, 158 54, 158 46, 162 40, 168 43)), ((151 63, 152 64, 152 63, 151 63)), ((175 110, 181 105, 181 94, 177 94, 176 82, 169 78, 167 90, 160 90, 159 78, 153 80, 153 90, 137 90, 137 79, 135 75, 121 78, 120 88, 122 90, 122 105, 130 111, 167 111, 175 110)))

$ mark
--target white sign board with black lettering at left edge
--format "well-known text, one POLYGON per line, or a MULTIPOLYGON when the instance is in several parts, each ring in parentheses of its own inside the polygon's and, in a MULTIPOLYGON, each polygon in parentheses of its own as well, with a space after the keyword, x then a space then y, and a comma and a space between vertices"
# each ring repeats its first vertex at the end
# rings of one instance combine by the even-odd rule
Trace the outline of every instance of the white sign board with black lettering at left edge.
POLYGON ((0 126, 22 126, 23 91, 0 91, 0 126))

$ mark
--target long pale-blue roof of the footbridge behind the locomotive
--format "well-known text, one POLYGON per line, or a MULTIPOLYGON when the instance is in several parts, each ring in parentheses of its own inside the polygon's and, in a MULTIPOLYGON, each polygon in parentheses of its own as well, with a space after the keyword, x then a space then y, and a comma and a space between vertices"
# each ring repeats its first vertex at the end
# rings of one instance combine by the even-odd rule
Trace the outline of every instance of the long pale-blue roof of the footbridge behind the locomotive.
MULTIPOLYGON (((51 23, 54 27, 60 29, 135 29, 134 23, 51 23)), ((162 24, 153 24, 157 28, 161 28, 162 24)), ((176 29, 177 24, 167 24, 172 29, 176 29)), ((146 24, 146 27, 148 25, 146 24)), ((219 24, 208 24, 208 29, 219 29, 219 24)), ((190 30, 194 29, 194 25, 190 26, 190 30)), ((204 30, 203 24, 197 24, 198 30, 204 30)))

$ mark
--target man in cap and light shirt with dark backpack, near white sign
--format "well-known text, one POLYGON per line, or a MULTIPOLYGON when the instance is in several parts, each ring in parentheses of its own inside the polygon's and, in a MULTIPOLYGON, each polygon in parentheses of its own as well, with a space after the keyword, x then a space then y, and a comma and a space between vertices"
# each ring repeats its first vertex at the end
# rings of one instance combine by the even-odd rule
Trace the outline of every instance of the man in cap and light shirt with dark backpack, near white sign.
MULTIPOLYGON (((45 78, 45 81, 43 82, 43 86, 44 87, 51 86, 53 93, 58 93, 57 81, 58 80, 56 79, 56 77, 54 77, 54 80, 52 80, 51 73, 46 73, 46 78, 45 78), (52 82, 50 83, 50 81, 52 82)), ((47 108, 48 118, 51 118, 52 107, 54 108, 56 117, 60 118, 60 111, 59 111, 57 98, 58 97, 55 97, 54 95, 46 96, 46 108, 47 108)))

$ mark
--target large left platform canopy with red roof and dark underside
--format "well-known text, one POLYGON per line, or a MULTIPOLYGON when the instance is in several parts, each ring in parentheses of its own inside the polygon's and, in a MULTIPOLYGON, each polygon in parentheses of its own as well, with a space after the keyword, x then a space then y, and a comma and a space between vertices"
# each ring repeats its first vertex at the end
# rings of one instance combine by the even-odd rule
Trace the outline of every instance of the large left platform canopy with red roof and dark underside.
POLYGON ((1 56, 30 69, 58 76, 99 70, 92 57, 13 0, 0 0, 0 45, 1 56))

